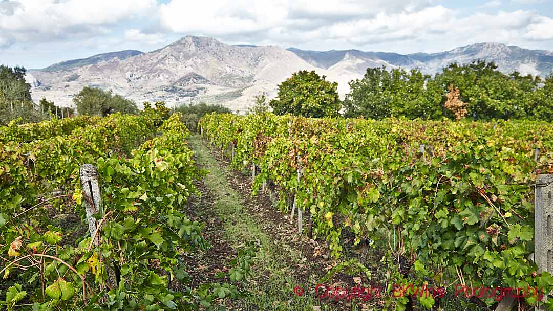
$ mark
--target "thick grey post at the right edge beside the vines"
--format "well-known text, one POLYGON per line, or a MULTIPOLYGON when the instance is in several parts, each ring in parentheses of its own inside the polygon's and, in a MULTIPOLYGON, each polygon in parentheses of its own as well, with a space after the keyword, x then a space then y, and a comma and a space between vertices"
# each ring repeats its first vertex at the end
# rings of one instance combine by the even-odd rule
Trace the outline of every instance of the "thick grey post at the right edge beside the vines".
POLYGON ((553 175, 541 175, 536 181, 534 204, 534 261, 538 273, 553 273, 553 175))

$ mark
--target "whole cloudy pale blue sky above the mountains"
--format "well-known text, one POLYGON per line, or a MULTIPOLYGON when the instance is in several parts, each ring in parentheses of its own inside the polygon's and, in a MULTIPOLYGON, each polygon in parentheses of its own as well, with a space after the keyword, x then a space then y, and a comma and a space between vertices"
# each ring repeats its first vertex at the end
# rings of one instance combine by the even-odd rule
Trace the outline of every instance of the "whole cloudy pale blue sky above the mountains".
POLYGON ((491 41, 553 50, 553 0, 0 0, 0 64, 9 66, 151 51, 185 35, 404 54, 491 41))

